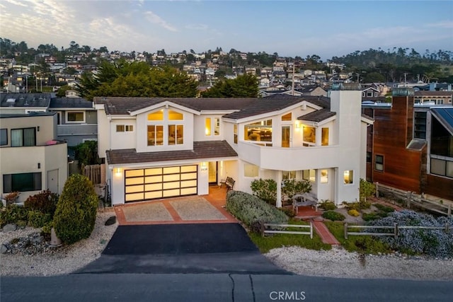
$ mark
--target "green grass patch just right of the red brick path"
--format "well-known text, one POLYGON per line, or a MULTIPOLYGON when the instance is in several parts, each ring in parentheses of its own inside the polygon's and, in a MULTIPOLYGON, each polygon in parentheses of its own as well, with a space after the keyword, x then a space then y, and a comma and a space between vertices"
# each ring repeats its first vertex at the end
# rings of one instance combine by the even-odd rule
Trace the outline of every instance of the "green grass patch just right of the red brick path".
POLYGON ((338 223, 334 221, 324 221, 327 228, 340 244, 348 250, 348 252, 361 252, 366 254, 377 254, 382 252, 388 254, 391 252, 389 245, 386 245, 378 238, 373 236, 348 236, 345 239, 344 223, 338 223))

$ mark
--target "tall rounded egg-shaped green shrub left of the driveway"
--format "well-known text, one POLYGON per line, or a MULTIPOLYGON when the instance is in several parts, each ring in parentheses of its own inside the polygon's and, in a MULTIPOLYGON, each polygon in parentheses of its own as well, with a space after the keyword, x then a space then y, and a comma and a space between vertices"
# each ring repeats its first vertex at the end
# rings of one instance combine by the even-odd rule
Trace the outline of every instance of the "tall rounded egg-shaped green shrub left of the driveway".
POLYGON ((96 222, 98 197, 93 183, 84 175, 71 175, 64 184, 55 211, 55 233, 71 244, 88 238, 96 222))

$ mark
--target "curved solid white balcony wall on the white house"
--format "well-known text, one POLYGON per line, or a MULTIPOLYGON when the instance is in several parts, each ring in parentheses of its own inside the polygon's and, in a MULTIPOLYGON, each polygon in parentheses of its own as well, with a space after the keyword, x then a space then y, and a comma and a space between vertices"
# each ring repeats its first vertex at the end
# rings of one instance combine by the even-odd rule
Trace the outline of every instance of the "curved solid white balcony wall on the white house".
POLYGON ((340 147, 298 146, 292 148, 258 146, 239 141, 239 158, 270 170, 306 170, 338 165, 340 147))

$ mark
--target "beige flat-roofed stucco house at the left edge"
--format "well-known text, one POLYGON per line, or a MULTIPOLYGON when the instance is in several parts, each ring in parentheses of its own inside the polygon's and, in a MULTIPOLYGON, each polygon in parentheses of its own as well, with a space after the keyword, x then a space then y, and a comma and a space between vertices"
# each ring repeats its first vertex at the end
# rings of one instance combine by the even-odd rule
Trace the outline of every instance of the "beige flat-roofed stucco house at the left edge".
POLYGON ((0 192, 21 192, 18 202, 49 189, 61 194, 67 180, 67 144, 57 140, 52 112, 0 114, 0 192))

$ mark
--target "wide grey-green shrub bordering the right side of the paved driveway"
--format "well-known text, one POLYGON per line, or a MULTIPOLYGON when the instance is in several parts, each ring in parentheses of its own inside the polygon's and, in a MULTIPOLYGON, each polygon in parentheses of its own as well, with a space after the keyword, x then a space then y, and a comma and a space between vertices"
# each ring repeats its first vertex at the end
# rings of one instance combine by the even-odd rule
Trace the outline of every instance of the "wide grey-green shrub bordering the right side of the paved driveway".
POLYGON ((288 216, 276 207, 251 194, 229 191, 226 194, 226 210, 242 221, 252 231, 260 223, 287 223, 288 216))

